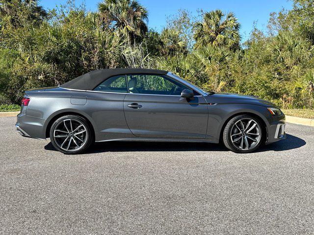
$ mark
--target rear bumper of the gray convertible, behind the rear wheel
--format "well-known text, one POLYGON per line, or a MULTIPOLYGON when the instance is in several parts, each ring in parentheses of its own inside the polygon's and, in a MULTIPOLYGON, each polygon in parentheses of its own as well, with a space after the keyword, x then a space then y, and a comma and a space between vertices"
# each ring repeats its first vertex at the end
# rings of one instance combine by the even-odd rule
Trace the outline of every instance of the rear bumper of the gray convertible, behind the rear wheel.
POLYGON ((45 119, 34 118, 21 113, 17 116, 15 127, 17 132, 24 137, 46 139, 46 133, 44 133, 45 121, 45 119))

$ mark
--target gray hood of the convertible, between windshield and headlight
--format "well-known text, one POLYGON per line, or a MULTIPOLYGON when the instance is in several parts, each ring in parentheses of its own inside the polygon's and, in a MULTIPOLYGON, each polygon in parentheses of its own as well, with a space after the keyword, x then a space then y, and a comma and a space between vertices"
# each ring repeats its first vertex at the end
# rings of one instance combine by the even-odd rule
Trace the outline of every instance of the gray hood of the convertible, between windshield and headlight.
POLYGON ((256 104, 265 107, 277 107, 277 105, 261 99, 256 96, 244 95, 244 94, 233 94, 233 93, 220 93, 209 94, 206 96, 208 103, 238 103, 238 104, 256 104))

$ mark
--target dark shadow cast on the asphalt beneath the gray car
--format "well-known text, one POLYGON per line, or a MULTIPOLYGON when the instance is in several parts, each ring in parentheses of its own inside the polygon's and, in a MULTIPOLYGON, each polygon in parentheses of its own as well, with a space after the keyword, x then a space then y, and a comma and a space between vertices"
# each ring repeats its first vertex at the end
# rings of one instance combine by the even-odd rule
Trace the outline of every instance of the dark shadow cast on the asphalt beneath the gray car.
MULTIPOLYGON (((299 148, 306 142, 298 137, 287 135, 287 139, 264 145, 257 152, 283 151, 299 148)), ((49 142, 46 150, 56 151, 49 142)), ((229 151, 223 144, 198 142, 140 142, 140 141, 108 141, 95 143, 85 154, 102 152, 149 152, 149 151, 229 151)))

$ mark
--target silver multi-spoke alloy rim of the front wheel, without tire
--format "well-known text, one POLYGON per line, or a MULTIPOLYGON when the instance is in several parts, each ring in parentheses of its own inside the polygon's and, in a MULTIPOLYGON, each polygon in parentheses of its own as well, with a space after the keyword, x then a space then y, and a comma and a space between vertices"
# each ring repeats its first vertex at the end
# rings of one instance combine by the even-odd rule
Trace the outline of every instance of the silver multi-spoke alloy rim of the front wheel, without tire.
POLYGON ((240 150, 250 150, 261 141, 261 127, 251 118, 242 118, 231 128, 230 138, 240 150))

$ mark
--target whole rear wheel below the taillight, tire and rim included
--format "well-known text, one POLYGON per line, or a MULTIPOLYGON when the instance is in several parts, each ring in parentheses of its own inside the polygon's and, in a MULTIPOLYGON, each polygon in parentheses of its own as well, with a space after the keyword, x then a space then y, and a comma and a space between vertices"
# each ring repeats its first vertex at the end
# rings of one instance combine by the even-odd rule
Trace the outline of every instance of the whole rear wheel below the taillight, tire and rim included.
POLYGON ((67 115, 56 119, 50 129, 53 147, 65 154, 85 151, 94 141, 88 122, 79 116, 67 115))

